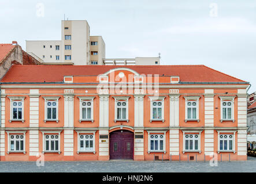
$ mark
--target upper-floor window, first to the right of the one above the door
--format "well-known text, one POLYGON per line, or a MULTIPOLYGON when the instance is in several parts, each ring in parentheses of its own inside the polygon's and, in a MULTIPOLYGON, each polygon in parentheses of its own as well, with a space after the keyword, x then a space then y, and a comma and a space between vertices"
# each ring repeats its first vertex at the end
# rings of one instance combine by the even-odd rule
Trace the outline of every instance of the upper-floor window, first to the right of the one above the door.
POLYGON ((150 122, 164 122, 164 99, 165 97, 149 97, 150 98, 150 122))

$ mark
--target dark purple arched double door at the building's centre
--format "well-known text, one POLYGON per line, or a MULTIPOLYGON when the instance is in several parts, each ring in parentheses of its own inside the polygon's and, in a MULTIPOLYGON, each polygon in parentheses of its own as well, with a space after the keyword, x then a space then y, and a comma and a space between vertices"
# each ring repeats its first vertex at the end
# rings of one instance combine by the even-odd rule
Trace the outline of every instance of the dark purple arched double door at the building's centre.
POLYGON ((133 159, 133 132, 119 130, 110 133, 110 159, 133 159))

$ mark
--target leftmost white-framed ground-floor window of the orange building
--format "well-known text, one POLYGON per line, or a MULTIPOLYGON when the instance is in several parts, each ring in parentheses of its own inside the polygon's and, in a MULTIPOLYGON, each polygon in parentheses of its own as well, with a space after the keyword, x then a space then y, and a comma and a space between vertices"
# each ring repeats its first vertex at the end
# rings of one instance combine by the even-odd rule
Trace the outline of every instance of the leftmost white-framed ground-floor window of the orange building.
POLYGON ((24 151, 24 135, 9 135, 10 136, 10 151, 24 151))

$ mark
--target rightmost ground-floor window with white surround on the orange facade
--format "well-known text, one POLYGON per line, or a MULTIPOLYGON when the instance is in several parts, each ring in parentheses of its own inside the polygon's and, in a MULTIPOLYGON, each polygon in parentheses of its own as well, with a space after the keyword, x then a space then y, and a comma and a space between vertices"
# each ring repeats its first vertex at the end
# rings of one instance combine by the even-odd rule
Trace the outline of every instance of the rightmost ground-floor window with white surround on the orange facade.
POLYGON ((218 154, 220 152, 235 153, 236 131, 217 131, 218 132, 218 154))

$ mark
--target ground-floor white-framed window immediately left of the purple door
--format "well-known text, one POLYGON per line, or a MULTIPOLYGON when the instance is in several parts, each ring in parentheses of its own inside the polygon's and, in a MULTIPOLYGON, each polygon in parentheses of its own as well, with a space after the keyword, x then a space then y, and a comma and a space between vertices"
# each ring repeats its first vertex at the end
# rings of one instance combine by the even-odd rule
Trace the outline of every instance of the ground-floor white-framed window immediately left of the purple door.
POLYGON ((79 138, 80 151, 94 151, 94 135, 80 135, 79 138))

